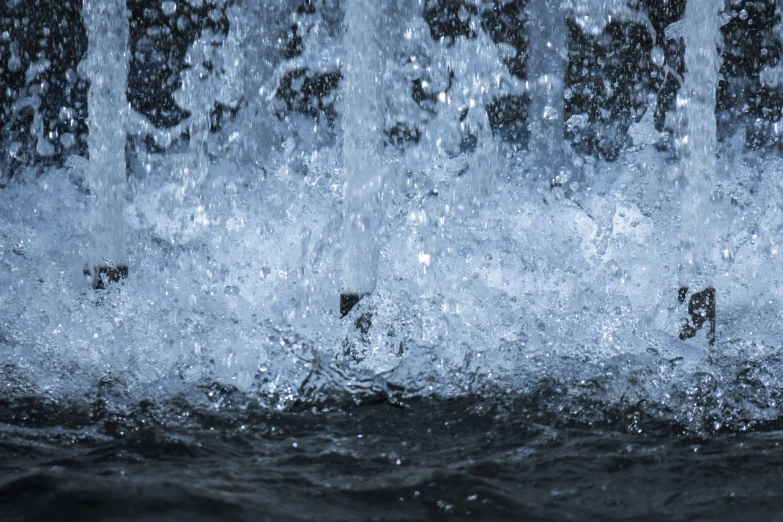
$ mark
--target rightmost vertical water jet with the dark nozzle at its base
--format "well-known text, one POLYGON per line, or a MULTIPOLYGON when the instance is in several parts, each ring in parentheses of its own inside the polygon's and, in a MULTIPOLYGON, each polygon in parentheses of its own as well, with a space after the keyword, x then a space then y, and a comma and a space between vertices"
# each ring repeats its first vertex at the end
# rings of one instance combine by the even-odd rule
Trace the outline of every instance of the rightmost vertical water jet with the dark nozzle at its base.
POLYGON ((715 220, 710 205, 716 167, 716 121, 718 73, 720 71, 720 20, 722 2, 689 0, 682 19, 685 43, 685 76, 677 94, 681 157, 681 270, 683 289, 704 287, 689 300, 689 318, 680 337, 696 335, 709 322, 708 341, 715 341, 715 290, 711 281, 711 252, 716 241, 715 220))

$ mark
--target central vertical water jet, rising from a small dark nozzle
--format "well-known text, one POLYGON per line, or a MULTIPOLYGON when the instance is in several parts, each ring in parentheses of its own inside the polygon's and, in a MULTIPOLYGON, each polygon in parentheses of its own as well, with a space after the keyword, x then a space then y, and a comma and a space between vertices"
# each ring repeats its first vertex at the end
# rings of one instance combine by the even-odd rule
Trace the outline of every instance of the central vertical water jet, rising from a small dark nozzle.
POLYGON ((343 68, 343 289, 341 315, 375 290, 376 232, 382 173, 381 51, 376 41, 378 2, 349 0, 344 18, 343 68))

